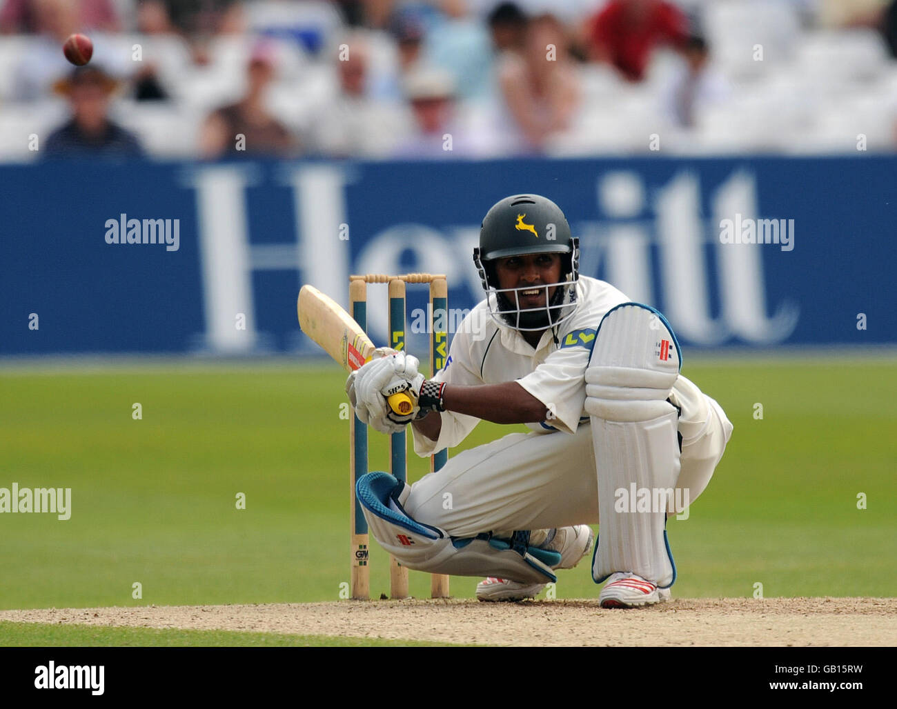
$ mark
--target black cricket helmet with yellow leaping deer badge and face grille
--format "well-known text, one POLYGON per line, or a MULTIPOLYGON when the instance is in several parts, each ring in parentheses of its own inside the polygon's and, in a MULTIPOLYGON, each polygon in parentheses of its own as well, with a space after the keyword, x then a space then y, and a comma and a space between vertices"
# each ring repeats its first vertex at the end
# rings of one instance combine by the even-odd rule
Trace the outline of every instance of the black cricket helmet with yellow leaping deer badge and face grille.
POLYGON ((493 319, 515 330, 535 332, 561 324, 576 309, 579 281, 579 239, 570 235, 570 224, 561 208, 541 195, 511 195, 492 205, 480 228, 480 246, 474 264, 493 319), (499 288, 495 262, 509 256, 560 254, 561 281, 538 286, 545 290, 545 306, 521 308, 518 291, 499 288), (550 289, 557 287, 549 300, 550 289))

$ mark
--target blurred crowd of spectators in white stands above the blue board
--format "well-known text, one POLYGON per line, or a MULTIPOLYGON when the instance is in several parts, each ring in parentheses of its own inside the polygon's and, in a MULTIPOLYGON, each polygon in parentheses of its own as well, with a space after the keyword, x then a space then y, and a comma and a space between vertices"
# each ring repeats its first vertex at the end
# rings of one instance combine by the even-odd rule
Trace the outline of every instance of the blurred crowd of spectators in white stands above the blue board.
POLYGON ((895 56, 897 0, 0 0, 0 160, 893 151, 895 56))

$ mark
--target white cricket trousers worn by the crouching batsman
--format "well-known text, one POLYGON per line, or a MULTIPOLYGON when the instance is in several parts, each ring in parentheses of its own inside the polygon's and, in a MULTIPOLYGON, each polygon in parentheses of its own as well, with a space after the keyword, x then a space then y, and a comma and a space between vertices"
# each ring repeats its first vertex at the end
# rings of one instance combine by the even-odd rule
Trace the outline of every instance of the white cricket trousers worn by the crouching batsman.
MULTIPOLYGON (((693 503, 710 482, 732 424, 719 404, 687 379, 680 376, 676 384, 676 391, 685 387, 676 487, 688 489, 693 503)), ((512 433, 459 453, 412 485, 405 512, 453 537, 599 523, 601 471, 596 471, 591 433, 587 420, 572 436, 512 433)))

